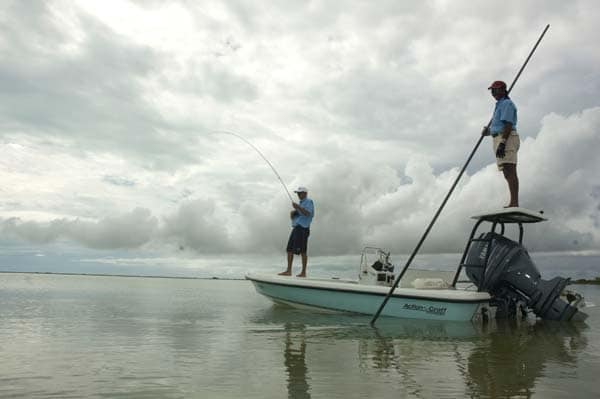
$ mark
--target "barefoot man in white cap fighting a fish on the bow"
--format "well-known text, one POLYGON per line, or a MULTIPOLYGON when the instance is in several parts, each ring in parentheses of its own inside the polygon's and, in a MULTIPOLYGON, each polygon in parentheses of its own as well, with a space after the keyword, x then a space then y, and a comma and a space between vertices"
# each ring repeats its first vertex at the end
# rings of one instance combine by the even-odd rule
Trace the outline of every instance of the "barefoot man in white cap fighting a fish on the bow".
POLYGON ((308 247, 308 236, 310 235, 310 223, 315 214, 315 206, 312 200, 307 197, 308 190, 306 187, 300 186, 294 192, 298 194, 300 202, 292 202, 294 210, 290 212, 292 233, 287 245, 288 268, 286 271, 279 273, 279 275, 291 276, 294 255, 300 255, 302 257, 302 271, 296 277, 306 277, 306 264, 308 262, 306 250, 308 247))

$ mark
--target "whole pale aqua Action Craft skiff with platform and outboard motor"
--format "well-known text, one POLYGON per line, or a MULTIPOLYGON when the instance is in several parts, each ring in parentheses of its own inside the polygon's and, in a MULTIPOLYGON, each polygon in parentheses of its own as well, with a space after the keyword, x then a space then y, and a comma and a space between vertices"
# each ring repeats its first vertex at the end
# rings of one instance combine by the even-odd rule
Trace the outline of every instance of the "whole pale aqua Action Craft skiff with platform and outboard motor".
POLYGON ((582 312, 583 297, 566 289, 570 280, 542 279, 523 246, 523 225, 546 221, 543 213, 513 207, 473 218, 475 226, 455 271, 411 269, 407 264, 396 274, 389 252, 365 247, 357 279, 256 273, 247 274, 246 279, 276 303, 320 311, 373 315, 389 294, 381 316, 445 321, 526 317, 529 313, 558 321, 587 317, 582 312), (484 223, 489 230, 477 235, 484 223), (518 227, 517 239, 507 237, 508 225, 518 227))

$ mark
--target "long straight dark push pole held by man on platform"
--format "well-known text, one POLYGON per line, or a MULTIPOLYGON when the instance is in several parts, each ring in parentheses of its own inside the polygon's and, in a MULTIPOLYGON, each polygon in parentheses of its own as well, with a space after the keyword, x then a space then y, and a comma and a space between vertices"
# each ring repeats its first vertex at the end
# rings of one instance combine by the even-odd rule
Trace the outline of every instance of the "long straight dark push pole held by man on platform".
MULTIPOLYGON (((525 62, 523 63, 523 66, 521 66, 521 69, 519 69, 519 72, 517 73, 517 76, 515 76, 515 78, 513 79, 512 84, 510 85, 510 88, 507 91, 507 95, 510 93, 510 91, 512 90, 512 88, 514 87, 515 83, 517 83, 517 80, 519 80, 519 77, 521 76, 521 72, 523 72, 523 70, 525 69, 525 66, 527 65, 527 63, 529 62, 529 60, 531 59, 531 56, 533 55, 533 53, 535 52, 535 50, 537 49, 537 46, 540 44, 540 42, 542 41, 542 38, 544 37, 544 35, 546 34, 546 32, 548 31, 548 28, 550 28, 550 25, 546 25, 546 28, 544 29, 544 31, 542 32, 542 34, 540 35, 539 39, 537 40, 537 42, 535 43, 535 45, 533 46, 533 48, 531 49, 531 51, 529 52, 529 55, 527 56, 527 59, 525 60, 525 62)), ((486 130, 489 129, 490 125, 492 124, 492 120, 490 119, 490 121, 488 122, 487 126, 486 126, 486 130)), ((479 148, 479 145, 481 144, 481 142, 483 141, 483 134, 480 135, 479 140, 477 140, 477 144, 475 144, 475 147, 473 148, 473 151, 471 151, 471 154, 469 155, 469 157, 467 158, 467 162, 465 162, 464 166, 462 167, 460 173, 458 174, 458 176, 456 177, 456 180, 454 180, 454 183, 452 184, 452 187, 450 187, 450 191, 448 191, 448 194, 446 194, 446 197, 444 198, 444 200, 442 201, 442 205, 440 205, 439 209, 437 210, 437 212, 435 213, 435 215, 433 216, 433 219, 431 220, 431 222, 429 223, 429 226, 427 226, 427 229, 425 229, 425 233, 423 234, 423 236, 421 237, 421 240, 419 241, 419 243, 417 244, 417 246, 415 247, 415 249, 413 250, 412 254, 410 255, 410 257, 408 258, 408 260, 406 261, 406 264, 404 265, 404 268, 402 269, 402 271, 400 272, 400 274, 398 275, 398 277, 396 278, 396 281, 394 282, 394 285, 392 286, 392 288, 390 289, 390 291, 388 292, 388 294, 386 295, 385 299, 383 300, 383 302, 381 303, 381 306, 379 306, 379 309, 377 309, 377 312, 375 313, 375 315, 373 316, 373 319, 371 320, 371 326, 373 326, 375 324, 375 322, 377 321, 377 318, 379 317, 379 315, 381 314, 381 311, 383 310, 383 308, 385 307, 385 305, 387 304, 387 302, 390 300, 390 297, 392 296, 392 294, 394 293, 394 290, 398 287, 398 284, 400 283, 400 280, 402 279, 402 277, 404 276, 404 273, 406 273, 406 270, 408 269, 408 266, 410 266, 412 260, 414 259, 414 257, 416 256, 417 252, 419 252, 419 249, 421 249, 421 245, 423 245, 423 242, 425 241, 425 238, 427 238, 427 235, 429 234, 429 231, 431 230, 431 228, 433 227, 433 225, 435 224, 438 216, 440 215, 440 213, 442 212, 442 209, 444 209, 444 206, 446 206, 446 202, 448 202, 448 199, 450 198, 450 195, 452 195, 452 192, 454 191, 454 188, 456 187, 456 185, 458 184, 458 181, 460 180, 460 178, 462 177, 463 173, 465 172, 465 169, 467 169, 467 166, 469 165, 469 163, 471 162, 471 159, 473 158, 473 155, 475 155, 475 152, 477 151, 477 149, 479 148)), ((456 282, 456 278, 454 279, 456 282)))

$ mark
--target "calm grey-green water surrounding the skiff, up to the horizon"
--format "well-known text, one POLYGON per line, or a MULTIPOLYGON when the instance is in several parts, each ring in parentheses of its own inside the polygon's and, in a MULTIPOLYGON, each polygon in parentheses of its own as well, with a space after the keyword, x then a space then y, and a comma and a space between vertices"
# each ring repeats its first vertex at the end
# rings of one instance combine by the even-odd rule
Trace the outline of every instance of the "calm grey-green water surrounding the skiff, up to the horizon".
POLYGON ((597 309, 578 325, 373 329, 246 281, 0 274, 0 397, 592 398, 597 309))

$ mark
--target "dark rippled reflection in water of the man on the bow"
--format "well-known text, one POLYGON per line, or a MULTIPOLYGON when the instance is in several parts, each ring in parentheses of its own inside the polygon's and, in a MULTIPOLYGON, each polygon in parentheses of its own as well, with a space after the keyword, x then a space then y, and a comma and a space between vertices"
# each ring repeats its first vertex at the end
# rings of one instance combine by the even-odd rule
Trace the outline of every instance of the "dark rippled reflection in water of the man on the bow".
POLYGON ((305 327, 285 323, 285 369, 288 373, 288 398, 310 398, 306 368, 305 327))

